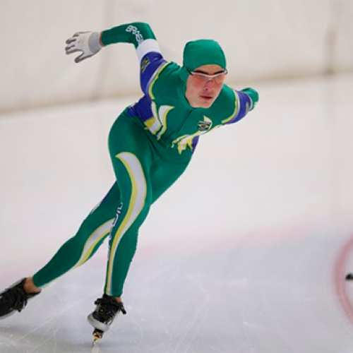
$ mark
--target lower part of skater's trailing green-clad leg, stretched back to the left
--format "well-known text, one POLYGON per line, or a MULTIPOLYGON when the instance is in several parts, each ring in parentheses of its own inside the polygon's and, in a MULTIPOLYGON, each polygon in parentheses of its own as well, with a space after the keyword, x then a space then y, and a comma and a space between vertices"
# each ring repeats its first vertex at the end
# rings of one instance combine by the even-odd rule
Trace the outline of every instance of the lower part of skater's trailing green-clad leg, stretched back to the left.
POLYGON ((115 183, 100 204, 83 221, 74 237, 66 241, 52 260, 33 276, 36 287, 44 287, 72 268, 83 265, 97 251, 119 213, 119 186, 115 183))

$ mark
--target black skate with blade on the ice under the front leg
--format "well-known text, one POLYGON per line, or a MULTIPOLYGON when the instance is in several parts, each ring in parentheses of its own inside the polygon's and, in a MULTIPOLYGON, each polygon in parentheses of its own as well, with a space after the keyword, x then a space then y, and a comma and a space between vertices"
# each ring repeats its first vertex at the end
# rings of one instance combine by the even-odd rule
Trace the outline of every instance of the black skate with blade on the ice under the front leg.
POLYGON ((103 333, 109 330, 114 318, 119 315, 119 312, 126 314, 124 305, 118 303, 114 297, 103 294, 102 298, 95 301, 97 305, 95 311, 88 315, 88 322, 95 330, 93 331, 93 340, 96 342, 103 337, 103 333))

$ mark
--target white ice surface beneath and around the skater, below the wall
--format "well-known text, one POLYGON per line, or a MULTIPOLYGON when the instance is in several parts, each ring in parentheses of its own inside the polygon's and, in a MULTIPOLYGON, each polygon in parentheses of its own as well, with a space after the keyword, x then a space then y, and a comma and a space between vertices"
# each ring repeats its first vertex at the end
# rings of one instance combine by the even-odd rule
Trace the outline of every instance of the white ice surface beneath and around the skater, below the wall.
MULTIPOLYGON (((256 109, 203 136, 152 206, 128 314, 92 348, 104 243, 0 321, 1 353, 353 352, 353 76, 253 88, 256 109)), ((109 189, 109 127, 135 99, 0 116, 1 289, 47 263, 109 189)))

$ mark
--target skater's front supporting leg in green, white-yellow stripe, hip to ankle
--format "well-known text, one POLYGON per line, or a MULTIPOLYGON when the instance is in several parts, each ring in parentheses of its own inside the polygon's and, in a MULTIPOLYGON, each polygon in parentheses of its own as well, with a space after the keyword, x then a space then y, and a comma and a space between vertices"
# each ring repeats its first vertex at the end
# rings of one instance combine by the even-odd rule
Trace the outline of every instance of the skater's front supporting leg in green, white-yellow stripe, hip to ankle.
POLYGON ((122 209, 109 241, 104 293, 120 297, 136 251, 138 229, 150 209, 152 152, 150 140, 143 128, 124 115, 112 127, 109 150, 121 191, 122 209))

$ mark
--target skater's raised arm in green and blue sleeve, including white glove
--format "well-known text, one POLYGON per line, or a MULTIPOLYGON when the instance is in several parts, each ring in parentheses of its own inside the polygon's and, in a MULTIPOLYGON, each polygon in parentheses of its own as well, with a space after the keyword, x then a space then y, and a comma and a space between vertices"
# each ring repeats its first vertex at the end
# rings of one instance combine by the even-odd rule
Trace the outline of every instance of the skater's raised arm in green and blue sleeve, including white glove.
POLYGON ((140 63, 140 85, 148 90, 150 78, 166 61, 160 52, 154 33, 147 23, 128 23, 102 32, 77 32, 66 41, 66 54, 81 52, 75 62, 79 63, 115 43, 131 43, 136 48, 140 63))

